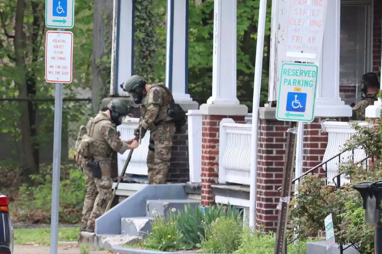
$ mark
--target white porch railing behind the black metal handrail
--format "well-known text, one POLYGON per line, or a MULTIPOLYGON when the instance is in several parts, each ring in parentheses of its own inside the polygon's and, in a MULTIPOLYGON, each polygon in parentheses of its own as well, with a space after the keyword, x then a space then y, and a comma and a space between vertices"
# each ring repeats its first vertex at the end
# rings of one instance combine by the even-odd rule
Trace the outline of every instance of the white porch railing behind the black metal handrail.
MULTIPOLYGON (((360 122, 360 125, 367 125, 367 122, 360 122)), ((333 122, 326 121, 321 124, 322 130, 328 133, 328 144, 324 153, 323 161, 327 161, 333 156, 340 153, 343 149, 346 140, 356 131, 351 128, 350 122, 333 122)), ((366 157, 366 153, 363 149, 354 150, 354 162, 358 162, 366 157)), ((352 151, 346 151, 341 155, 341 162, 346 162, 352 158, 352 151)), ((332 159, 323 165, 323 169, 327 170, 328 184, 333 185, 332 178, 337 175, 339 158, 332 159)), ((349 183, 345 176, 341 176, 341 185, 343 183, 349 183)))

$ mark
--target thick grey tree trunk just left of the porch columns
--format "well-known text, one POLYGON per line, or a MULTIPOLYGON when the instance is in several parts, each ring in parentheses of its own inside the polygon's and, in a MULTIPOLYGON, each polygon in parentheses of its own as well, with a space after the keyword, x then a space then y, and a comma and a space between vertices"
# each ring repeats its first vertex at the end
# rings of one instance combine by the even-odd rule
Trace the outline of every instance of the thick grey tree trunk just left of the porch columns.
POLYGON ((94 0, 92 106, 99 111, 99 99, 110 93, 110 63, 112 52, 113 0, 94 0), (107 57, 106 61, 102 58, 107 57))

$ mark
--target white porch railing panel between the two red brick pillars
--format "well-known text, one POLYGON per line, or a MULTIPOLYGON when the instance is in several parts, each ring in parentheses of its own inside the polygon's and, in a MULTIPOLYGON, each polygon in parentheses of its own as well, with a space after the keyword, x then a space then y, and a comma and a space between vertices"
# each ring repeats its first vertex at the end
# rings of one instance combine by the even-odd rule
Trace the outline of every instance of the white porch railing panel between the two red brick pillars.
POLYGON ((251 124, 236 124, 225 118, 220 122, 219 183, 251 182, 251 124))

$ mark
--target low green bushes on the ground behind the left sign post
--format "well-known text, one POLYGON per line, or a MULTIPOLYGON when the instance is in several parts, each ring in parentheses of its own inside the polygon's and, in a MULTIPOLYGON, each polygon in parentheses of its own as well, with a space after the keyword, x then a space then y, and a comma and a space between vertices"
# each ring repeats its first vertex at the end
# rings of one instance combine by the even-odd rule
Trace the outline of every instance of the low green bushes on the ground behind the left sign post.
MULTIPOLYGON (((10 204, 13 222, 50 223, 52 198, 52 167, 40 175, 32 175, 38 186, 22 185, 10 204)), ((78 223, 82 217, 86 194, 84 174, 75 164, 62 166, 60 182, 60 223, 78 223)))

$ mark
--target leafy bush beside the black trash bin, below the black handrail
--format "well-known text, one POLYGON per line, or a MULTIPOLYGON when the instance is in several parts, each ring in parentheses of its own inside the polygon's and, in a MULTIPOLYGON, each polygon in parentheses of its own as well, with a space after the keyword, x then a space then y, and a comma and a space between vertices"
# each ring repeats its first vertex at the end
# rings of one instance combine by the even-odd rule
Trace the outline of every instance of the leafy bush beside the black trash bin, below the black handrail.
MULTIPOLYGON (((382 177, 380 162, 365 170, 349 162, 340 167, 353 183, 375 182, 382 177), (348 168, 345 166, 349 166, 348 168)), ((324 219, 332 213, 338 244, 350 244, 360 253, 374 253, 374 227, 365 223, 363 201, 352 184, 340 189, 325 186, 325 178, 309 175, 298 186, 298 195, 291 202, 289 228, 299 240, 325 230, 324 219)))

